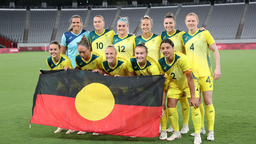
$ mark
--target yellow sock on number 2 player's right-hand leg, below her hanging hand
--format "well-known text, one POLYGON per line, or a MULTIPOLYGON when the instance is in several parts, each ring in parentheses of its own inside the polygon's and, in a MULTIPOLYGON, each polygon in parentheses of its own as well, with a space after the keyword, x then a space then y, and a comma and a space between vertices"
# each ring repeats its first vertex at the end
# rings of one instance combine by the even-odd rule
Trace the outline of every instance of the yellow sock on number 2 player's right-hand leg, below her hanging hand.
POLYGON ((201 129, 200 109, 198 109, 198 108, 195 109, 194 106, 191 106, 190 109, 191 109, 191 115, 192 115, 195 133, 200 133, 200 129, 201 129))

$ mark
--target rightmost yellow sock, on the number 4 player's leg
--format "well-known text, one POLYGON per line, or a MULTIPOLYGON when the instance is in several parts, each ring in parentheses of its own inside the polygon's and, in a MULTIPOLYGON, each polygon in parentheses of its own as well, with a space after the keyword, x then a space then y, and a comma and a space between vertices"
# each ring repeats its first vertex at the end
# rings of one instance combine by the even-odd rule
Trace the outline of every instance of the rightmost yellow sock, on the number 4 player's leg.
POLYGON ((208 123, 208 130, 213 130, 215 110, 213 105, 205 106, 205 116, 208 123))

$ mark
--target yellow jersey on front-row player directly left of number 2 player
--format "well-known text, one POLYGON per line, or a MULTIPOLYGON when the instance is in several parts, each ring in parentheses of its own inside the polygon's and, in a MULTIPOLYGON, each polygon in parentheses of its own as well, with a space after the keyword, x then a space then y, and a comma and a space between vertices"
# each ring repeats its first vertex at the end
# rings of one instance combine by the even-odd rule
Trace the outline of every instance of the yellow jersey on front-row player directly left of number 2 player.
POLYGON ((145 66, 140 67, 135 57, 130 58, 127 62, 127 68, 132 73, 135 71, 136 75, 158 75, 160 74, 155 60, 149 56, 146 57, 147 62, 145 66))

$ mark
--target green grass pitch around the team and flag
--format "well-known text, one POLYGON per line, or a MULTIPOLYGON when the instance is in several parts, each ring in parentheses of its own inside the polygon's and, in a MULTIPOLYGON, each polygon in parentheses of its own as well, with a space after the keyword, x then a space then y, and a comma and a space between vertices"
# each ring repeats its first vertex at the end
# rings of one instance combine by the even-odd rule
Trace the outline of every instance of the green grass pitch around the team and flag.
MULTIPOLYGON (((215 108, 215 141, 207 141, 201 135, 202 143, 255 143, 255 78, 256 50, 221 50, 221 78, 214 81, 213 103, 215 108)), ((39 68, 49 70, 45 52, 21 52, 0 54, 0 142, 1 143, 170 143, 155 138, 127 138, 113 135, 93 136, 54 134, 52 126, 31 124, 32 102, 39 77, 39 68)), ((213 70, 215 61, 211 52, 213 70)), ((179 127, 182 127, 181 106, 178 102, 179 127)), ((170 125, 168 120, 167 126, 170 125)), ((147 127, 145 123, 145 127, 147 127)), ((189 133, 173 143, 193 143, 194 126, 189 120, 189 133)), ((168 133, 168 137, 171 133, 168 133)))

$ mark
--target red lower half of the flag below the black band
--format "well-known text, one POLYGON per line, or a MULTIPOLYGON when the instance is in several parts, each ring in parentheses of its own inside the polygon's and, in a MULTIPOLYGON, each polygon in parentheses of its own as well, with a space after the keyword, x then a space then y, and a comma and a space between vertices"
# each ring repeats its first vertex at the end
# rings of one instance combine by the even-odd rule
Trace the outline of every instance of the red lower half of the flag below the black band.
POLYGON ((161 109, 115 104, 107 117, 90 121, 77 112, 75 98, 38 94, 30 122, 101 134, 158 137, 161 109))

